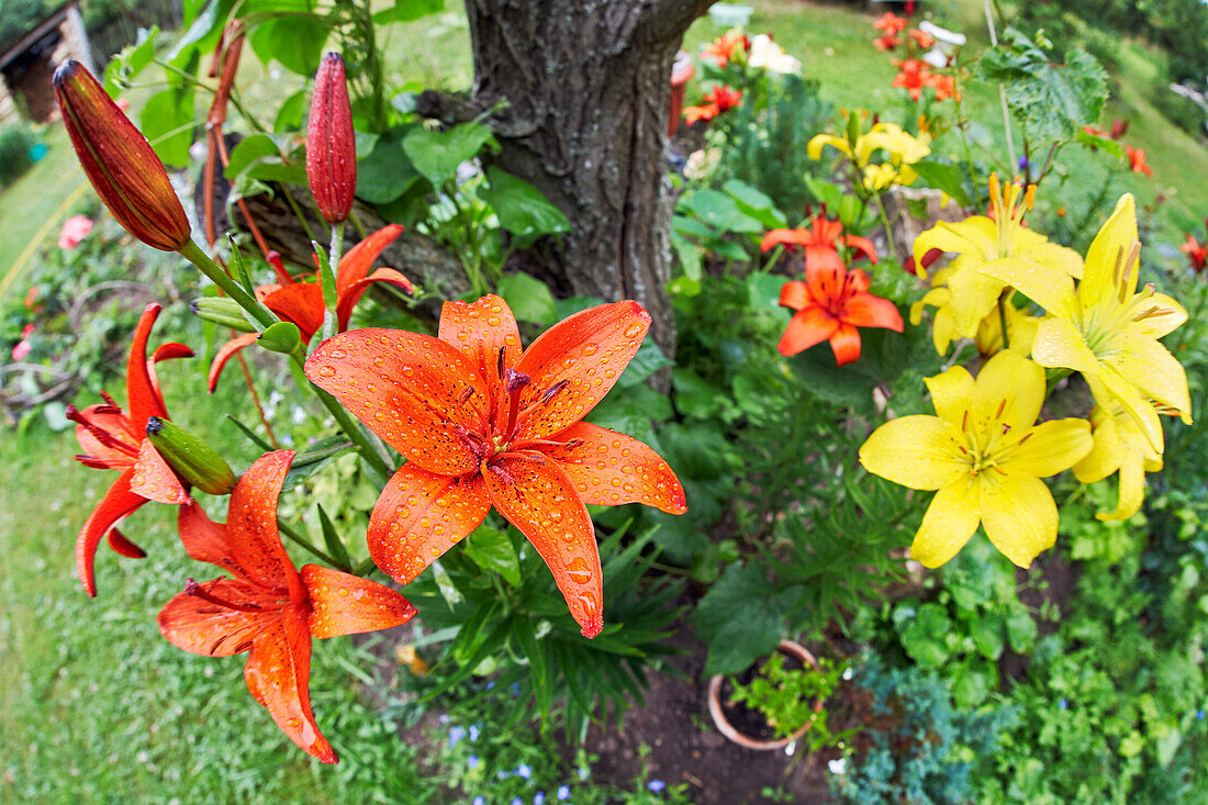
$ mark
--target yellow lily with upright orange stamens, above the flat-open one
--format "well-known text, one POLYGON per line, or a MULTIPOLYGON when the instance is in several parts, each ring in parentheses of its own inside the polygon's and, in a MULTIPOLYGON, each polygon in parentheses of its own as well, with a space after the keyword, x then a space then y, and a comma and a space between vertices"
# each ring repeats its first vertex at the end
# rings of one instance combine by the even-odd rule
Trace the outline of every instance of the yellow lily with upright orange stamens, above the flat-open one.
POLYGON ((1023 216, 1032 209, 1036 187, 1021 189, 1011 183, 1004 191, 998 175, 989 178, 993 218, 974 215, 959 224, 940 221, 914 239, 914 265, 919 277, 925 277, 923 255, 931 249, 954 251, 959 257, 949 267, 952 315, 956 332, 972 338, 982 319, 989 315, 998 297, 1010 282, 1003 277, 1010 271, 1043 271, 1067 280, 1082 276, 1082 259, 1073 249, 1049 243, 1036 232, 1023 226, 1023 216))

